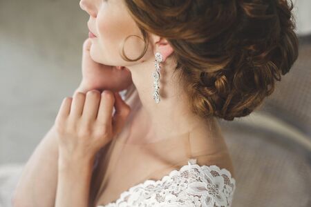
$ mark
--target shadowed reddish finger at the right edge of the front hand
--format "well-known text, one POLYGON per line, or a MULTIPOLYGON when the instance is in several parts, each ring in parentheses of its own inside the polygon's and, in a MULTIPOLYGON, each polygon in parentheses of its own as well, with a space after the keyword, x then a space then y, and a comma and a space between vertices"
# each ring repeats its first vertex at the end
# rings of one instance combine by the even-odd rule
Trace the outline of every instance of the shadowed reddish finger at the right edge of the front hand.
POLYGON ((113 135, 120 132, 126 118, 131 112, 131 107, 125 103, 119 92, 115 92, 115 114, 113 115, 113 135))

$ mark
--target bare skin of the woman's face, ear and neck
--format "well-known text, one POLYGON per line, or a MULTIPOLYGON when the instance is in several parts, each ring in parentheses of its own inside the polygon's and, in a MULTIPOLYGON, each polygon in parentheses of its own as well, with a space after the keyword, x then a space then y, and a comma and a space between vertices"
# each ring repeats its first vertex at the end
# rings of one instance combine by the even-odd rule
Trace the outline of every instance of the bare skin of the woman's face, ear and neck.
MULTIPOLYGON (((126 61, 122 59, 119 51, 122 41, 129 35, 135 34, 142 37, 142 34, 124 2, 121 0, 82 0, 80 7, 90 15, 88 27, 97 36, 91 39, 91 58, 106 65, 125 66, 131 72, 142 103, 142 114, 145 119, 149 120, 145 140, 135 141, 155 141, 154 139, 160 139, 156 137, 182 134, 202 121, 190 112, 185 92, 182 90, 183 86, 173 76, 176 63, 170 57, 173 48, 166 39, 149 34, 149 46, 144 57, 135 62, 126 61), (154 55, 156 52, 160 52, 164 58, 164 63, 161 63, 162 70, 160 70, 161 101, 159 104, 155 103, 152 98, 153 77, 151 74, 155 70, 154 55)), ((143 41, 137 37, 130 37, 124 46, 126 55, 131 59, 139 57, 143 48, 143 41)))

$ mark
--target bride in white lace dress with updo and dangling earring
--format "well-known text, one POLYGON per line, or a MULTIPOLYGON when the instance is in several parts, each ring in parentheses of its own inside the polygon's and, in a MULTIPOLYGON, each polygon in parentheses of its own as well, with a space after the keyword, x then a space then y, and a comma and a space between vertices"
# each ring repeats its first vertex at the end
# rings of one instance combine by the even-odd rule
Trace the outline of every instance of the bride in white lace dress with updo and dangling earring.
POLYGON ((218 119, 245 117, 298 55, 287 1, 81 0, 82 82, 14 206, 231 206, 218 119))

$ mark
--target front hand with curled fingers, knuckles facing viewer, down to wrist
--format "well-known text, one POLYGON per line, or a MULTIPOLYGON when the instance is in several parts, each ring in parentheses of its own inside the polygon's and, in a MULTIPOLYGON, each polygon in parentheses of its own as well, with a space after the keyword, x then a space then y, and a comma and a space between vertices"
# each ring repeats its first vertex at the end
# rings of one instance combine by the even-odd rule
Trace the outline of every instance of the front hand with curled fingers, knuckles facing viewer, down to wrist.
POLYGON ((73 98, 66 97, 55 120, 60 161, 93 160, 120 132, 130 111, 120 94, 110 90, 75 92, 73 98))

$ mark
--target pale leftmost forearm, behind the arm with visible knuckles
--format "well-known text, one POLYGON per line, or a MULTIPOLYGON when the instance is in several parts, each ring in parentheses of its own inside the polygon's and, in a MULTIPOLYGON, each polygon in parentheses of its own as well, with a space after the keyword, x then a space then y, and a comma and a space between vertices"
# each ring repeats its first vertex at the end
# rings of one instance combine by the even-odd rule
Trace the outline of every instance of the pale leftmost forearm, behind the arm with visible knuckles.
POLYGON ((12 206, 54 206, 57 187, 57 140, 54 126, 41 140, 23 168, 12 206))

